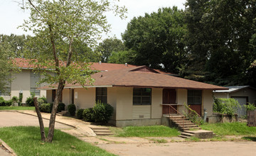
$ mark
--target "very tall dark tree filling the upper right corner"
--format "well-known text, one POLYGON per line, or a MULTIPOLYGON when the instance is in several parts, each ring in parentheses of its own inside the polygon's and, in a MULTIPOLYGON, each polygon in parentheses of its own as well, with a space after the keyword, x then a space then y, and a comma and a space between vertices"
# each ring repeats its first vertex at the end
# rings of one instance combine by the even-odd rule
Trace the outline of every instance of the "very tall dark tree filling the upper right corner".
POLYGON ((255 0, 186 2, 190 61, 184 77, 219 85, 250 83, 247 69, 256 58, 250 45, 256 33, 255 4, 255 0))

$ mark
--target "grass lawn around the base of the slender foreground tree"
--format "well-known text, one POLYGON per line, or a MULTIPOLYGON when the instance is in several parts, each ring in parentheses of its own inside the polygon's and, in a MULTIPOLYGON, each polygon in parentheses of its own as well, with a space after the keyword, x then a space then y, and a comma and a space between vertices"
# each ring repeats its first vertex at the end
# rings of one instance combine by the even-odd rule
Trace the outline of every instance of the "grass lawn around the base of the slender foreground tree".
MULTIPOLYGON (((48 131, 48 128, 46 128, 48 131)), ((47 132, 46 132, 47 133, 47 132)), ((0 138, 17 155, 112 155, 72 135, 55 130, 53 143, 41 142, 39 127, 0 128, 0 138)))

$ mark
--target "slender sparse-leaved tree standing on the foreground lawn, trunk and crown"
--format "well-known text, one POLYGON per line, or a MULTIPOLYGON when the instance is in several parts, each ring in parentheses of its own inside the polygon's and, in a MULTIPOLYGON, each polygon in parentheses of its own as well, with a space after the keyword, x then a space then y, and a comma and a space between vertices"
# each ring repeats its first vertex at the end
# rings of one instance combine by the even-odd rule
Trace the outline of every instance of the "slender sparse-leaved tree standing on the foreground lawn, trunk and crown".
POLYGON ((65 84, 79 83, 85 86, 93 82, 90 77, 92 71, 84 63, 87 55, 80 55, 80 50, 75 48, 81 43, 93 47, 100 39, 101 33, 110 30, 105 12, 114 11, 123 16, 125 8, 120 8, 109 0, 28 0, 27 2, 26 9, 31 11, 31 16, 25 21, 23 28, 32 30, 35 37, 27 43, 29 50, 26 57, 34 58, 31 52, 34 46, 37 60, 31 60, 31 64, 35 67, 35 71, 43 74, 41 83, 57 84, 50 114, 48 138, 45 137, 43 128, 41 129, 42 140, 51 143, 58 103, 65 84))

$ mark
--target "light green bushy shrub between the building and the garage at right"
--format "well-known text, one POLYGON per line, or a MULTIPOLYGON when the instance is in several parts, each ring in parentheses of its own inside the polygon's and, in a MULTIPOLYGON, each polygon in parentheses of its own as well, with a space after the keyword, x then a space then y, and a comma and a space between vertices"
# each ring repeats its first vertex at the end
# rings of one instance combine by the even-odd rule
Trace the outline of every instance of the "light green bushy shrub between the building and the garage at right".
POLYGON ((214 99, 213 112, 234 116, 238 113, 238 107, 241 106, 235 99, 214 99))

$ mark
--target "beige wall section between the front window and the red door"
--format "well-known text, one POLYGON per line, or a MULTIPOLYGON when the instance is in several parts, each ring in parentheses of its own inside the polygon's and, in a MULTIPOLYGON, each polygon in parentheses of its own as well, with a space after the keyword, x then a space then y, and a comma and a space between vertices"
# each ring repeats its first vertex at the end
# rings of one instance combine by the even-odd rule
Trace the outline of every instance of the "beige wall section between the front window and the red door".
POLYGON ((161 118, 163 89, 153 88, 151 93, 151 118, 161 118))

